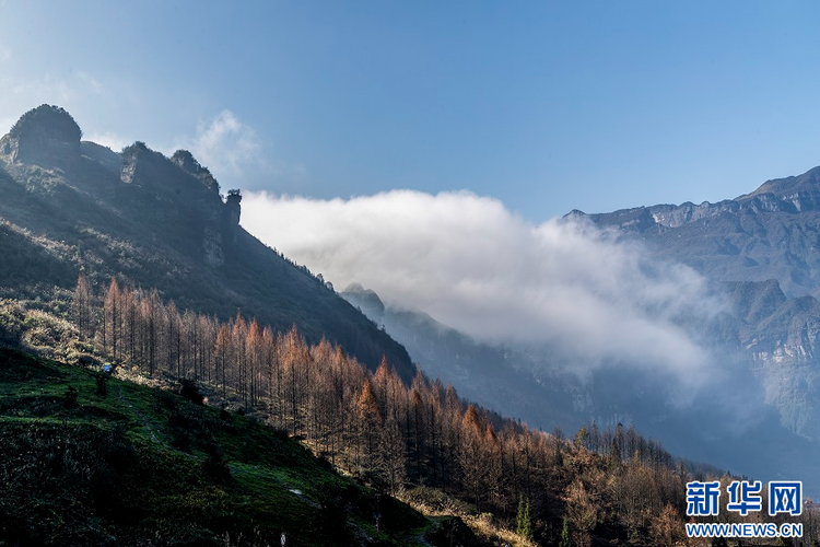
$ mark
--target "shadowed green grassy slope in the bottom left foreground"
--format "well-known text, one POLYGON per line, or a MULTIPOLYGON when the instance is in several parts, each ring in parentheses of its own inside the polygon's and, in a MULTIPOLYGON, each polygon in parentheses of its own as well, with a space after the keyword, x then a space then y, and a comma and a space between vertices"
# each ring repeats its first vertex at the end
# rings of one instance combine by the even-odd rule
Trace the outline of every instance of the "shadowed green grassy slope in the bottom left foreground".
POLYGON ((286 434, 97 375, 0 348, 0 546, 418 545, 421 515, 286 434))

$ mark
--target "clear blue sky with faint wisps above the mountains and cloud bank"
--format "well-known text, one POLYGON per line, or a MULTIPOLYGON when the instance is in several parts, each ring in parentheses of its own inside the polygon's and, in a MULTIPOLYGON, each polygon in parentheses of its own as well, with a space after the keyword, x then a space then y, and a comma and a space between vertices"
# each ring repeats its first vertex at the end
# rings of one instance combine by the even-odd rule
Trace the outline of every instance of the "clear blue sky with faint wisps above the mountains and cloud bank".
POLYGON ((820 164, 817 2, 0 1, 0 124, 198 152, 223 188, 467 189, 529 222, 820 164), (127 7, 127 8, 125 8, 127 7))

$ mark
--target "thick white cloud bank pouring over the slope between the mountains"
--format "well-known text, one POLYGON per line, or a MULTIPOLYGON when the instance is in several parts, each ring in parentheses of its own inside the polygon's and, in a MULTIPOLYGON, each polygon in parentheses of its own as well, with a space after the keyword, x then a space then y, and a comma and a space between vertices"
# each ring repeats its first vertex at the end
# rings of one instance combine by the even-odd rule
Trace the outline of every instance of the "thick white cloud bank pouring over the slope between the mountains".
POLYGON ((687 382, 711 365, 680 326, 719 309, 703 278, 584 221, 534 225, 492 198, 394 190, 251 193, 242 223, 337 289, 360 282, 481 340, 547 344, 578 368, 625 363, 687 382))

